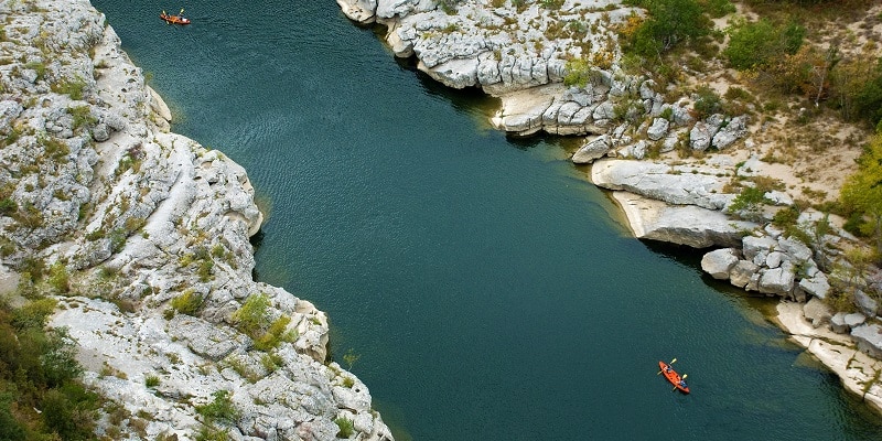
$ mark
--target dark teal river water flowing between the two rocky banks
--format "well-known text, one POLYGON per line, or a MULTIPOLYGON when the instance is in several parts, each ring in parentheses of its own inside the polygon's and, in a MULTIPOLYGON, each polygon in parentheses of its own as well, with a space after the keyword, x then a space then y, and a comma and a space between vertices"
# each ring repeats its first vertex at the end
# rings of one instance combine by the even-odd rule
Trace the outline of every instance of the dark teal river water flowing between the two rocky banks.
POLYGON ((191 0, 186 28, 93 4, 172 130, 246 168, 256 277, 330 314, 398 441, 882 437, 768 302, 631 237, 570 142, 491 129, 494 99, 395 61, 334 1, 191 0), (674 357, 689 396, 656 375, 674 357))

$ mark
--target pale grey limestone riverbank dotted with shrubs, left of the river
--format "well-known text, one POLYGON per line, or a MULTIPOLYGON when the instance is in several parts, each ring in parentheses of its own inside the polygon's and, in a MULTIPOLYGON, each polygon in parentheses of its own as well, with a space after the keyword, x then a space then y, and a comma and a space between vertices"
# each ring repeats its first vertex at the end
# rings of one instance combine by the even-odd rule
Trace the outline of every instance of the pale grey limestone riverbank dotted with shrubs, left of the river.
POLYGON ((0 17, 0 293, 58 300, 51 325, 117 409, 98 435, 391 440, 329 362, 325 314, 252 280, 246 171, 170 132, 105 17, 87 0, 0 17), (217 400, 230 415, 209 421, 217 400))

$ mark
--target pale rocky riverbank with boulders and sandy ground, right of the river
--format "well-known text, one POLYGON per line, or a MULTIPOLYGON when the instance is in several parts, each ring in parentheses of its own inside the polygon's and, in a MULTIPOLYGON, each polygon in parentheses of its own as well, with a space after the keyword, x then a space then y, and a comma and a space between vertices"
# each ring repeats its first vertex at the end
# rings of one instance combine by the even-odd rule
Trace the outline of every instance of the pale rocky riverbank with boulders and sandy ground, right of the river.
MULTIPOLYGON (((613 192, 636 237, 702 254, 718 248, 702 259, 708 273, 781 298, 782 327, 850 391, 882 411, 882 365, 876 362, 882 359, 882 327, 879 306, 868 294, 882 292, 882 273, 867 268, 857 275, 845 261, 849 250, 863 244, 836 216, 799 213, 794 225, 808 244, 771 223, 797 198, 837 197, 845 176, 854 171, 861 151, 854 140, 865 136, 860 130, 825 120, 793 132, 786 115, 760 120, 697 112, 704 99, 700 95, 679 96, 619 66, 615 26, 642 12, 616 1, 337 4, 356 22, 383 25, 396 56, 416 57, 418 68, 432 78, 499 97, 502 106, 492 118, 498 129, 515 136, 584 136, 572 162, 591 164, 593 183, 613 192), (580 84, 564 86, 572 60, 592 68, 580 84), (763 189, 762 204, 735 203, 745 187, 763 186, 771 187, 763 189), (831 295, 831 281, 851 287, 854 304, 849 308, 857 312, 832 311, 821 301, 831 295)), ((878 10, 867 11, 874 14, 878 10)), ((717 28, 724 29, 732 17, 717 20, 717 28)), ((857 46, 868 43, 864 35, 857 40, 857 46)), ((688 74, 718 96, 736 89, 718 67, 688 74)))

